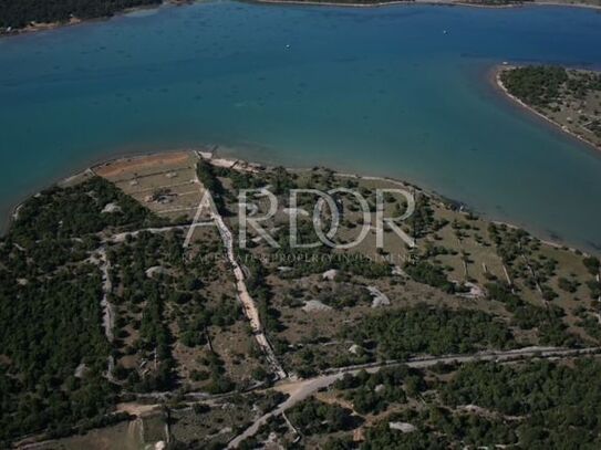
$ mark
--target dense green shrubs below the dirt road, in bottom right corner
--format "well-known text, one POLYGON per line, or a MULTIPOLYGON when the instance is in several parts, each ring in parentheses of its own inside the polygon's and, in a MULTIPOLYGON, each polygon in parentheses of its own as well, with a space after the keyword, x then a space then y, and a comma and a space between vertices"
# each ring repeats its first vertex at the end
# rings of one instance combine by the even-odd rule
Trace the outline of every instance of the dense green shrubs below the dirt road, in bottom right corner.
MULTIPOLYGON (((393 374, 395 368, 387 370, 393 374)), ((407 371, 402 367, 400 370, 407 371)), ((417 379, 424 378, 424 371, 413 371, 417 379)), ((436 375, 435 368, 428 371, 429 381, 422 381, 417 394, 421 401, 395 401, 392 414, 380 414, 376 423, 366 428, 362 443, 352 443, 345 435, 330 439, 325 448, 592 449, 601 443, 601 388, 595 383, 601 363, 597 359, 469 363, 458 369, 450 367, 444 374, 436 375), (405 431, 393 423, 405 426, 405 431)), ((373 388, 374 375, 360 374, 363 385, 356 377, 345 377, 334 388, 349 398, 364 385, 373 388)), ((398 375, 383 378, 388 379, 390 386, 381 388, 382 393, 405 386, 407 380, 398 375)))

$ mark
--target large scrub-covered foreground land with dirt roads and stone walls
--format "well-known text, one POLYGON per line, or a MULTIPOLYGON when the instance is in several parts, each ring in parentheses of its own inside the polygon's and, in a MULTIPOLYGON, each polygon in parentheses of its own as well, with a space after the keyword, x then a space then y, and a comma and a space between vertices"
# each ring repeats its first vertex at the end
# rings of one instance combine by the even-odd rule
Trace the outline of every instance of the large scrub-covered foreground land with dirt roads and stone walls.
MULTIPOLYGON (((344 244, 365 221, 336 205, 344 244)), ((198 150, 101 164, 0 239, 0 447, 599 447, 600 266, 388 178, 198 150), (238 192, 262 187, 280 248, 249 230, 245 249, 238 192), (352 249, 293 248, 297 188, 410 190, 417 245, 386 227, 379 251, 370 226, 352 249)))

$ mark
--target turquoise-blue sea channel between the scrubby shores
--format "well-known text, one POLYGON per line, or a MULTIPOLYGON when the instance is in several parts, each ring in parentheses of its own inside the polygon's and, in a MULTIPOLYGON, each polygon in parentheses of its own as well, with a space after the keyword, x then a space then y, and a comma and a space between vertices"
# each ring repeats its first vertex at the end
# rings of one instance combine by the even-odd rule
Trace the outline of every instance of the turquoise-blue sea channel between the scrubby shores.
POLYGON ((0 212, 93 160, 219 144, 601 245, 601 153, 495 92, 502 61, 601 69, 601 13, 225 1, 0 39, 0 212))

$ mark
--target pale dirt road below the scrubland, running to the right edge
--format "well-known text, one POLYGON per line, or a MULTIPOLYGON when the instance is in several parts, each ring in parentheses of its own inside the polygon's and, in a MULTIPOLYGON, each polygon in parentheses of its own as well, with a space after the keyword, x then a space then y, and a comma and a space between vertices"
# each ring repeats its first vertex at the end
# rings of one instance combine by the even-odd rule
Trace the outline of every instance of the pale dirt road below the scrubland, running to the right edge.
POLYGON ((334 370, 334 373, 329 374, 329 375, 322 375, 319 377, 299 380, 299 381, 282 383, 280 385, 274 386, 273 389, 288 394, 289 395, 288 399, 283 401, 280 406, 278 406, 276 409, 273 409, 272 411, 267 412, 266 415, 261 416, 242 433, 234 438, 229 442, 228 449, 238 448, 238 446, 245 439, 255 436, 259 431, 259 428, 262 425, 267 423, 269 419, 283 414, 288 409, 292 408, 294 405, 299 404, 300 401, 315 394, 319 389, 331 386, 332 384, 341 379, 346 374, 356 375, 361 370, 365 370, 367 373, 373 374, 383 367, 394 367, 398 365, 406 365, 413 368, 427 368, 438 363, 464 364, 464 363, 470 363, 470 362, 477 362, 477 360, 489 360, 489 362, 493 360, 497 363, 509 363, 512 360, 519 360, 524 358, 553 359, 553 358, 566 357, 566 356, 592 355, 592 354, 599 353, 600 350, 601 348, 597 348, 597 347, 578 348, 578 349, 566 349, 566 348, 557 348, 557 347, 526 347, 526 348, 519 348, 516 350, 508 350, 508 352, 483 352, 475 355, 463 355, 463 356, 447 355, 447 356, 439 356, 439 357, 422 357, 422 358, 410 359, 407 362, 388 362, 388 363, 383 363, 383 364, 377 364, 377 365, 344 367, 344 368, 334 370))

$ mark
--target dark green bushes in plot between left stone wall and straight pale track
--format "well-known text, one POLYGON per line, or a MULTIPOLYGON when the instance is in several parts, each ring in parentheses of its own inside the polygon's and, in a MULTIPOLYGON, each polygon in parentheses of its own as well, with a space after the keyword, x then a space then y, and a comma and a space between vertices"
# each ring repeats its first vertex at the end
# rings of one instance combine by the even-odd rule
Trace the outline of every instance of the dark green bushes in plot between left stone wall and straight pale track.
MULTIPOLYGON (((210 327, 225 329, 241 318, 241 310, 234 299, 221 296, 209 306, 199 291, 204 282, 216 280, 216 268, 206 260, 206 253, 186 259, 183 254, 183 238, 179 233, 153 234, 142 232, 129 242, 116 245, 108 252, 113 266, 112 280, 122 289, 113 295, 113 302, 123 308, 118 321, 120 332, 132 338, 125 328, 137 331, 137 338, 128 345, 123 339, 115 344, 117 356, 136 354, 141 360, 153 360, 152 370, 139 374, 135 369, 121 368, 121 378, 126 386, 138 393, 170 390, 179 383, 175 375, 176 362, 173 345, 179 341, 186 347, 200 347, 209 343, 210 327), (147 276, 151 268, 165 269, 169 274, 147 276), (199 275, 203 280, 199 280, 199 275), (142 310, 141 318, 131 313, 142 310), (174 335, 170 323, 176 322, 178 333, 174 335)), ((206 249, 207 252, 219 251, 206 249)), ((205 371, 195 371, 195 380, 207 380, 207 391, 220 394, 235 386, 228 378, 224 362, 211 352, 203 359, 205 371)), ((121 367, 121 366, 117 366, 121 367)))

